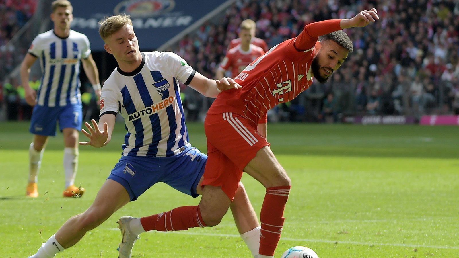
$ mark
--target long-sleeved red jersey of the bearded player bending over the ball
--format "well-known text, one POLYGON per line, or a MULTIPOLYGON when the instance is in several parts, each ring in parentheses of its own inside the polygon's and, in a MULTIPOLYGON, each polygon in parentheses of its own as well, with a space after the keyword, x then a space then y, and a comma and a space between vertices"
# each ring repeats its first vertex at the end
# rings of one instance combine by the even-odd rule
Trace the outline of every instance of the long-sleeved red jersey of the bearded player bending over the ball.
POLYGON ((310 23, 296 38, 271 48, 235 77, 242 89, 218 94, 207 113, 234 112, 254 127, 265 123, 269 109, 291 101, 311 85, 314 45, 319 36, 341 30, 340 21, 310 23))

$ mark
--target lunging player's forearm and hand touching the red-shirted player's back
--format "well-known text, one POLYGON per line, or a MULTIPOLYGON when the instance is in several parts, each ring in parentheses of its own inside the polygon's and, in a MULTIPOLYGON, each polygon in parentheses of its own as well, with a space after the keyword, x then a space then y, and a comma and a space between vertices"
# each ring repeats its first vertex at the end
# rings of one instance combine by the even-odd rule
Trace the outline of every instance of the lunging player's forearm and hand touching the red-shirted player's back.
POLYGON ((197 72, 195 73, 189 86, 208 98, 216 98, 218 93, 224 90, 242 88, 241 85, 237 84, 231 78, 212 80, 197 72))

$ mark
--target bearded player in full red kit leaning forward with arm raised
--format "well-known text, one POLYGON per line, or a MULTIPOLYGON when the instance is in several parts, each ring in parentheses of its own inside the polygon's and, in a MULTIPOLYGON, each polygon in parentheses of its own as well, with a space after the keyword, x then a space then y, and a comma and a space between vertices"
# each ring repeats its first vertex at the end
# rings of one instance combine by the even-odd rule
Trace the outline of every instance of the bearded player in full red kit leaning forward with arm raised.
MULTIPOLYGON (((222 92, 207 112, 204 129, 208 158, 199 214, 181 213, 182 224, 195 227, 192 221, 197 215, 206 226, 219 224, 245 171, 266 187, 260 213, 260 248, 255 257, 273 258, 291 181, 266 141, 266 112, 308 89, 313 78, 326 82, 353 51, 352 41, 341 30, 364 27, 376 20, 379 17, 373 8, 351 19, 310 23, 296 38, 274 46, 236 76, 242 89, 222 92)), ((157 219, 161 214, 145 222, 154 228, 163 223, 157 219)))

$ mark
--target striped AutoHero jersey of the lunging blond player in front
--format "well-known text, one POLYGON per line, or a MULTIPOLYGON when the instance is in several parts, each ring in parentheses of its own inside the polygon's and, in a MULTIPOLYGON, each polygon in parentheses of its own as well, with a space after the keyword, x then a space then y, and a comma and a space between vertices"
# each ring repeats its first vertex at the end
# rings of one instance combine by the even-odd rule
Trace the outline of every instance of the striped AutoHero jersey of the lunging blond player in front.
POLYGON ((168 157, 188 144, 179 81, 189 84, 196 71, 171 52, 141 53, 131 73, 117 67, 101 92, 101 116, 121 113, 128 133, 123 156, 168 157))

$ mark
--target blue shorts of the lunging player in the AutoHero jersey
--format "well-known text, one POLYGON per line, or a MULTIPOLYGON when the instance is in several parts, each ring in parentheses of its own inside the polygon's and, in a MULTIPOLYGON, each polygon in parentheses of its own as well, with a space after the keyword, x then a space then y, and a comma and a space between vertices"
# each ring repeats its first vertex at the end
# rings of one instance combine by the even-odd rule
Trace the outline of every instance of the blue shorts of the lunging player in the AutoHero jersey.
POLYGON ((107 179, 123 185, 131 201, 158 182, 197 197, 196 186, 204 174, 207 155, 195 147, 184 148, 171 157, 123 156, 107 179))

